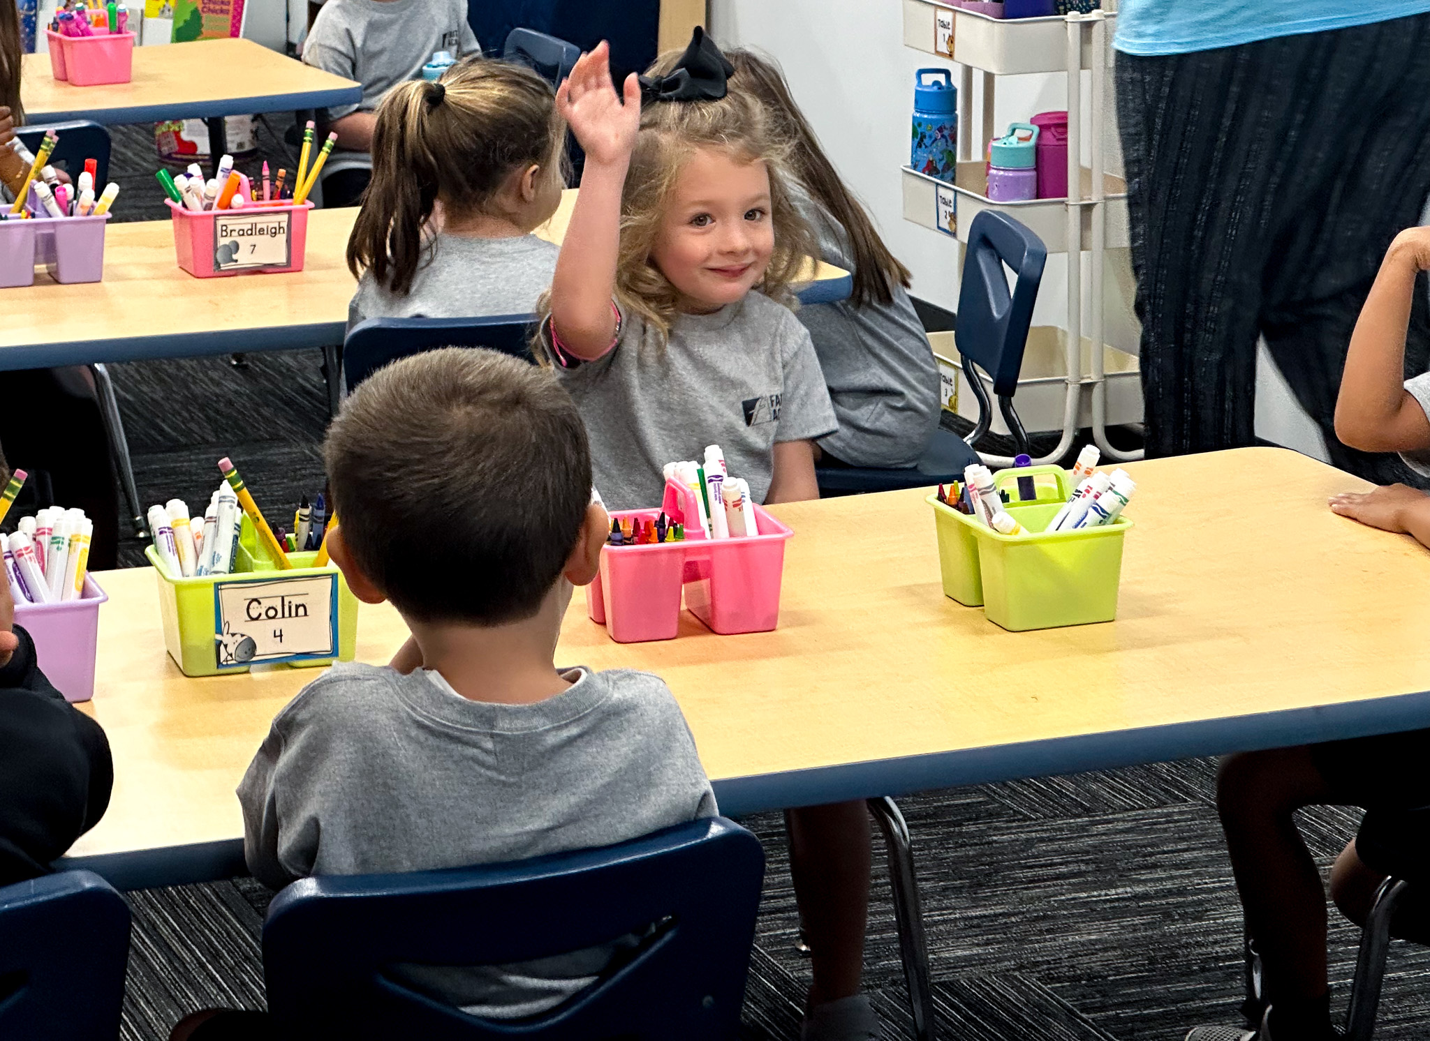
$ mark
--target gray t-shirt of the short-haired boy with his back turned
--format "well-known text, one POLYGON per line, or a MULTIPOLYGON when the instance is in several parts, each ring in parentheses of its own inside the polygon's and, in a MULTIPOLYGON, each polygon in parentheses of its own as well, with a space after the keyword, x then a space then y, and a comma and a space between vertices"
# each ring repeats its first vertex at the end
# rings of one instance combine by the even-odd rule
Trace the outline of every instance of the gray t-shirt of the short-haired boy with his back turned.
MULTIPOLYGON (((239 784, 243 854, 305 875, 426 871, 609 845, 716 813, 659 677, 565 671, 536 704, 469 701, 436 673, 333 665, 273 720, 239 784)), ((552 1008, 638 942, 519 965, 393 967, 473 1015, 552 1008)))

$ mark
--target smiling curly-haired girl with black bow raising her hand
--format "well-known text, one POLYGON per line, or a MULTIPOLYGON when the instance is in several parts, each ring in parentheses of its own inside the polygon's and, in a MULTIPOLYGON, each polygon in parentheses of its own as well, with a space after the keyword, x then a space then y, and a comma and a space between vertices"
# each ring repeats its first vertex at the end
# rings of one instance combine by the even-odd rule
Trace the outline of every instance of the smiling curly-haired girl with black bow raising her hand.
MULTIPOLYGON (((671 63, 668 67, 676 67, 671 63)), ((809 333, 784 306, 808 253, 781 141, 726 93, 729 64, 696 30, 678 71, 611 83, 605 43, 556 106, 586 153, 539 350, 591 433, 615 508, 661 503, 662 466, 725 451, 762 503, 818 498, 814 441, 835 430, 809 333)), ((858 994, 869 882, 862 803, 791 811, 791 870, 812 950, 807 1038, 871 1038, 858 994)))

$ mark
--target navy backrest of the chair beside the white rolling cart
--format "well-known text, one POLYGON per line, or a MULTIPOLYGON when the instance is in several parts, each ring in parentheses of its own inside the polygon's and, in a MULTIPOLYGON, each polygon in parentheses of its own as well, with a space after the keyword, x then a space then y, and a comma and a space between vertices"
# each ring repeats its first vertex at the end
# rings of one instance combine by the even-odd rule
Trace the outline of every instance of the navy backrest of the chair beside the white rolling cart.
POLYGON ((968 228, 954 343, 960 354, 992 377, 1000 397, 1012 397, 1018 388, 1022 348, 1047 258, 1042 240, 1004 213, 982 210, 968 228), (1004 264, 1017 276, 1011 293, 1004 264))

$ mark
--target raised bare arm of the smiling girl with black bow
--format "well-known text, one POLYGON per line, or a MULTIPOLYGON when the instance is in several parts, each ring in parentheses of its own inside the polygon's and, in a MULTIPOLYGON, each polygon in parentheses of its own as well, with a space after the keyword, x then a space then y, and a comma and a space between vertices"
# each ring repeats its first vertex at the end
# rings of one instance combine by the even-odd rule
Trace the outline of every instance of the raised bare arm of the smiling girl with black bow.
POLYGON ((561 84, 556 109, 585 149, 586 167, 551 283, 551 320, 562 348, 591 361, 611 350, 616 334, 611 296, 621 246, 621 190, 641 129, 641 84, 633 73, 628 76, 622 103, 611 83, 611 49, 602 40, 561 84))

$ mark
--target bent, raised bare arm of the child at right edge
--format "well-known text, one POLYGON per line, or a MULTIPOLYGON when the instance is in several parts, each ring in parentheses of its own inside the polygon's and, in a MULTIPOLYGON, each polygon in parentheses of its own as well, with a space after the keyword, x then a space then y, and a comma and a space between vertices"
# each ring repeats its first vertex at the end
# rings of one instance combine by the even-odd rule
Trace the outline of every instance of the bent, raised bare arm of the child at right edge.
POLYGON ((1430 270, 1430 227, 1406 228, 1386 251, 1346 354, 1336 400, 1336 437, 1351 448, 1430 448, 1430 420, 1404 387, 1410 304, 1416 276, 1424 270, 1430 270))

